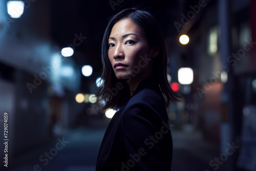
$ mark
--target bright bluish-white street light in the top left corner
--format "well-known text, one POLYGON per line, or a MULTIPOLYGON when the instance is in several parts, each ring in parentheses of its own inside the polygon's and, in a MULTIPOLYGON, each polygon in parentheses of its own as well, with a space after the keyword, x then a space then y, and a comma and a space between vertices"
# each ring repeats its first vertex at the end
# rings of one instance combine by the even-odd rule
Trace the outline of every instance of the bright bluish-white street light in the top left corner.
POLYGON ((7 12, 12 18, 19 18, 24 12, 23 1, 8 1, 7 12))

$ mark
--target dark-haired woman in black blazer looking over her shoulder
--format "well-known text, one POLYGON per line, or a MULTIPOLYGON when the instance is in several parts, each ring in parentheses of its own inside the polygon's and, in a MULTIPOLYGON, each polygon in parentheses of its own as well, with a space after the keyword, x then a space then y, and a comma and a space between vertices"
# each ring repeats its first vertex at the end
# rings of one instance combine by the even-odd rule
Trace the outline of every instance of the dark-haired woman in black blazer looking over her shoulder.
POLYGON ((166 107, 181 97, 170 89, 161 30, 136 8, 113 16, 101 55, 104 80, 97 98, 117 112, 100 147, 96 170, 170 170, 172 136, 166 107))

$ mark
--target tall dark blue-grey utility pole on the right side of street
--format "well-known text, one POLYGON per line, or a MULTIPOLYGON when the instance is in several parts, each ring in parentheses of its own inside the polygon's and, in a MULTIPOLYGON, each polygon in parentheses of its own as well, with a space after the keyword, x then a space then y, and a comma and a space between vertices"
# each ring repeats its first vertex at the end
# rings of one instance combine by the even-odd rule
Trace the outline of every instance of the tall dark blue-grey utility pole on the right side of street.
MULTIPOLYGON (((228 56, 230 56, 230 39, 231 39, 231 29, 230 29, 230 16, 231 16, 231 0, 219 0, 218 1, 218 12, 219 12, 219 26, 220 26, 220 55, 222 65, 227 67, 228 79, 224 83, 224 89, 221 97, 221 124, 220 124, 220 144, 221 153, 226 153, 227 144, 232 144, 234 142, 233 133, 233 115, 232 115, 232 89, 233 89, 233 70, 230 67, 230 63, 227 61, 228 56)), ((234 170, 234 156, 228 156, 228 160, 225 161, 224 166, 227 171, 234 170)))

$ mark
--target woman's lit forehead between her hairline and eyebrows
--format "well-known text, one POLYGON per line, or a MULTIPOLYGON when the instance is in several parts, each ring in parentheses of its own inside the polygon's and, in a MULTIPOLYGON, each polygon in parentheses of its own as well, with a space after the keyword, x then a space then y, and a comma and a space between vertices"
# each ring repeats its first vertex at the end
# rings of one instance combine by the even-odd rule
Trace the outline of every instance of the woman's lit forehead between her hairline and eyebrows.
POLYGON ((117 22, 113 26, 110 36, 117 37, 119 35, 122 36, 127 33, 135 33, 137 35, 142 36, 144 34, 144 31, 139 25, 133 22, 133 20, 131 20, 130 18, 124 18, 119 20, 119 22, 117 22))

